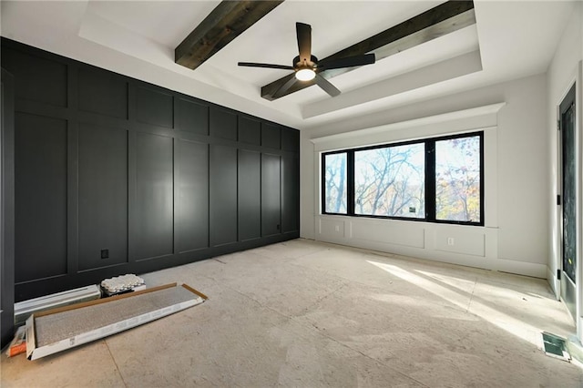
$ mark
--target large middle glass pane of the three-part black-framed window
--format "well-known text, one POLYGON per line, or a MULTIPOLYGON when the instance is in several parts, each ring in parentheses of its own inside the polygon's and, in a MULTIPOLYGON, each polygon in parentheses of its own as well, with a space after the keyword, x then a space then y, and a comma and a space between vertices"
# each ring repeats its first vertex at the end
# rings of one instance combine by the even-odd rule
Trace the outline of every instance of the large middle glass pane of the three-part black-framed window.
POLYGON ((424 219, 424 143, 354 151, 354 213, 424 219))

